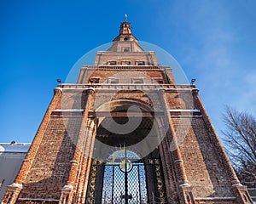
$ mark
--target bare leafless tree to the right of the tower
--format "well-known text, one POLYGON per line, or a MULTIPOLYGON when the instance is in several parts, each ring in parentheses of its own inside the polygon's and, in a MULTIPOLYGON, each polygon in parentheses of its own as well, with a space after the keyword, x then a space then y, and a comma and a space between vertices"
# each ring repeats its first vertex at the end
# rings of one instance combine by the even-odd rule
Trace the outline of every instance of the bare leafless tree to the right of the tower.
POLYGON ((256 120, 226 106, 224 123, 224 145, 236 173, 241 183, 256 188, 256 120))

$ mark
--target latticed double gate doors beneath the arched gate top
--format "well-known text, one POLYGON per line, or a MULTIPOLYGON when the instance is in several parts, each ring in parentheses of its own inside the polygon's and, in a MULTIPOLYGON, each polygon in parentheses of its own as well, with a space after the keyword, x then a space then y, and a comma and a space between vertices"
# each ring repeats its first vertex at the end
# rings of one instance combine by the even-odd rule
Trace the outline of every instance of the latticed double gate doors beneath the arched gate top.
POLYGON ((131 165, 131 170, 127 172, 127 177, 125 177, 126 173, 119 164, 106 164, 102 203, 144 204, 148 202, 144 165, 143 163, 133 163, 131 165))

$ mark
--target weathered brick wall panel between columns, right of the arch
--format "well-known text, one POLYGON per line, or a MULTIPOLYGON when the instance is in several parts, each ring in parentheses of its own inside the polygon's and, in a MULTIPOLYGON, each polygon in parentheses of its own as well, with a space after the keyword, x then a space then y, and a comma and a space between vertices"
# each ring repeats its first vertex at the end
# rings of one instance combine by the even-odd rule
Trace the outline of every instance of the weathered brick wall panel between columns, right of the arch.
POLYGON ((172 118, 172 122, 175 127, 179 126, 177 138, 186 134, 180 149, 195 197, 234 196, 230 179, 218 157, 219 152, 212 145, 202 118, 172 118), (201 190, 201 186, 205 186, 204 190, 201 190))

